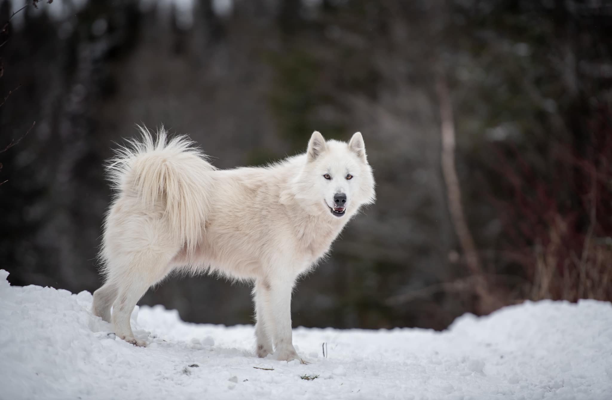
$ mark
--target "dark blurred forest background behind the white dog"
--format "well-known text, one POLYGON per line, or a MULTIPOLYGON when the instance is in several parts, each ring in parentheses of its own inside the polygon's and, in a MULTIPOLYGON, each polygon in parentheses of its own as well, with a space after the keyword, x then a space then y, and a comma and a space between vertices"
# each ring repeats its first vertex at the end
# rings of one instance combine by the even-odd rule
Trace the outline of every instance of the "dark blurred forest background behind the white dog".
MULTIPOLYGON (((294 326, 612 300, 610 1, 2 0, 0 28, 12 284, 100 285, 103 161, 143 122, 219 168, 364 133, 378 201, 299 283, 294 326)), ((207 276, 140 303, 252 322, 250 288, 207 276)))

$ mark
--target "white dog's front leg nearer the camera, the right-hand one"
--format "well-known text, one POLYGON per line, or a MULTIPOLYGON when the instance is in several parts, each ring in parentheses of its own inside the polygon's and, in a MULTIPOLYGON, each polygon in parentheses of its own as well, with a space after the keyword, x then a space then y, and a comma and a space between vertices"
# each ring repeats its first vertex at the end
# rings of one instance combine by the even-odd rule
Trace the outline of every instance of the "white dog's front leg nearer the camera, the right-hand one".
POLYGON ((291 291, 295 280, 266 279, 261 285, 266 328, 274 343, 274 357, 281 361, 297 360, 291 335, 291 291))

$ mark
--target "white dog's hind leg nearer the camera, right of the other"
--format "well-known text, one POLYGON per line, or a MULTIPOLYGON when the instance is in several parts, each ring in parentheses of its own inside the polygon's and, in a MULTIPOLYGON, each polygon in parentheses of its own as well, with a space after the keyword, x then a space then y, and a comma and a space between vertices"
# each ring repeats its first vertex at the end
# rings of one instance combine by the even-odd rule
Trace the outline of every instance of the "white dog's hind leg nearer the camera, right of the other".
POLYGON ((132 311, 146 293, 147 289, 161 281, 170 272, 170 257, 164 254, 140 251, 130 257, 130 265, 124 273, 114 277, 118 285, 118 295, 113 303, 114 333, 119 338, 136 346, 146 346, 146 342, 136 339, 130 326, 132 311))

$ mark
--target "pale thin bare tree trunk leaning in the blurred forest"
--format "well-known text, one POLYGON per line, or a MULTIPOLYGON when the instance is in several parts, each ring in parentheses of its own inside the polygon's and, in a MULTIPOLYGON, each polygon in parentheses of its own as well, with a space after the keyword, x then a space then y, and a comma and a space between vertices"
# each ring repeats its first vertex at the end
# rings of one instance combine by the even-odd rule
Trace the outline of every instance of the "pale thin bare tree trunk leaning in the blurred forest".
POLYGON ((455 169, 455 124, 453 122, 453 109, 450 102, 449 88, 443 73, 439 73, 436 80, 436 89, 439 97, 441 135, 442 135, 442 175, 446 183, 446 193, 455 232, 459 239, 469 272, 474 275, 474 290, 479 297, 479 313, 488 314, 502 306, 499 299, 491 294, 490 287, 485 280, 476 250, 476 244, 469 231, 463 206, 461 206, 461 185, 455 169))

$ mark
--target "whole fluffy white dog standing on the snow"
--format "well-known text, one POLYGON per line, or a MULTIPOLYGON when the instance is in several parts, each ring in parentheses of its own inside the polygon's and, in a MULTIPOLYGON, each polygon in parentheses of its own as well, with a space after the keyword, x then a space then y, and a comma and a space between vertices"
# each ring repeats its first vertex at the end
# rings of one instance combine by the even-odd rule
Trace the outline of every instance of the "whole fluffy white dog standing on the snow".
POLYGON ((256 354, 298 358, 291 293, 364 204, 375 200, 362 135, 313 133, 305 154, 262 168, 215 169, 185 136, 141 128, 110 160, 116 198, 100 256, 105 284, 92 311, 138 346, 130 314, 175 269, 255 283, 256 354), (111 306, 113 313, 111 316, 111 306), (274 347, 273 347, 274 346, 274 347))

